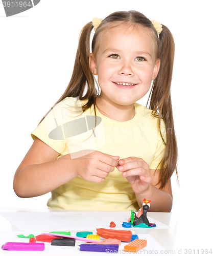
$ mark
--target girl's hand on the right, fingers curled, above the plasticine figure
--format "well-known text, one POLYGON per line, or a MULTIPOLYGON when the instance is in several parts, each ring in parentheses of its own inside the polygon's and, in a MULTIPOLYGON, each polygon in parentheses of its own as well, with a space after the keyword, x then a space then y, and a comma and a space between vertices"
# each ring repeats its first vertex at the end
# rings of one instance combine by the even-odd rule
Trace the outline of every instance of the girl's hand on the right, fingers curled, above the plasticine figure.
POLYGON ((135 194, 143 194, 152 183, 149 164, 139 157, 127 157, 119 160, 116 168, 122 172, 131 184, 135 194))

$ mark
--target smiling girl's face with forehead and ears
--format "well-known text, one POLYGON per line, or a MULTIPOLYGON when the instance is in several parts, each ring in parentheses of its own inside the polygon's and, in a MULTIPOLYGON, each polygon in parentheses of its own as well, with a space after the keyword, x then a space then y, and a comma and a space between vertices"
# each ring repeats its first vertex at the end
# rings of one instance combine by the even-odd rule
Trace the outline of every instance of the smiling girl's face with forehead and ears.
POLYGON ((131 25, 105 30, 100 35, 97 56, 90 53, 89 65, 91 72, 98 75, 99 100, 130 105, 149 91, 160 61, 155 58, 151 32, 131 25))

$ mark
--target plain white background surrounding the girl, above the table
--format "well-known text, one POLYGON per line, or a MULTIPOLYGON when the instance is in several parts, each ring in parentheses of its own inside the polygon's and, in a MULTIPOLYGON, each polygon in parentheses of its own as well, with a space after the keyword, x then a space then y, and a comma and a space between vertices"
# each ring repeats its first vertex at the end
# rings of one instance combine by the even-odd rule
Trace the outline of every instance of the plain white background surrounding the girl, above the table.
MULTIPOLYGON (((212 20, 210 1, 41 0, 6 17, 0 3, 0 207, 47 208, 50 193, 18 198, 13 176, 32 145, 30 133, 66 89, 79 33, 93 17, 137 10, 173 33, 172 103, 180 186, 172 177, 172 212, 212 210, 212 20)), ((93 33, 93 32, 92 32, 93 33)), ((146 105, 147 97, 138 101, 146 105)))

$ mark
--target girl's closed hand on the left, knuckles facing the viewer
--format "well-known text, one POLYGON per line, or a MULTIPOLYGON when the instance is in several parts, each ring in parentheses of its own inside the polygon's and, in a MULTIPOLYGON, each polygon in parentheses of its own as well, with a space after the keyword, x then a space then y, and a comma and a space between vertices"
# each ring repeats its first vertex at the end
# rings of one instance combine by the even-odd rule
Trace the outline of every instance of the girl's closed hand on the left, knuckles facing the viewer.
POLYGON ((111 156, 99 151, 72 159, 76 176, 84 180, 100 183, 105 180, 114 167, 119 165, 119 156, 111 156))

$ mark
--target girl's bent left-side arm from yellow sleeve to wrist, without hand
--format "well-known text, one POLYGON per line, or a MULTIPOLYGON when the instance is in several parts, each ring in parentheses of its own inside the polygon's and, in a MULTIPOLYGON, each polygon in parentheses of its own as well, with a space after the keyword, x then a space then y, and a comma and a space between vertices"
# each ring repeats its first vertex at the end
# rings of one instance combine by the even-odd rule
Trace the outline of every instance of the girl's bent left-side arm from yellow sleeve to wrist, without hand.
POLYGON ((38 138, 18 166, 13 188, 18 197, 44 195, 75 178, 68 156, 56 159, 59 153, 38 138), (63 161, 64 160, 64 161, 63 161), (65 161, 66 160, 66 161, 65 161), (68 168, 69 165, 69 168, 68 168), (67 172, 69 169, 69 172, 67 172))

